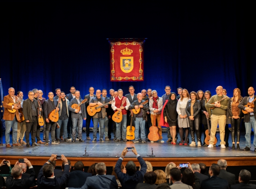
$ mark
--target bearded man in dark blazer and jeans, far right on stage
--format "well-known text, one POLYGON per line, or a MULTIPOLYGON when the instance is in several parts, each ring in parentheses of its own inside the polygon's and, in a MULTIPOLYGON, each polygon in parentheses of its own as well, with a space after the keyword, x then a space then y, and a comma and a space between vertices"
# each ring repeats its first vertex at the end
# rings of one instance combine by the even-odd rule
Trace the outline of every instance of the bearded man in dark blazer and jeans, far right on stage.
POLYGON ((255 91, 253 87, 249 87, 248 89, 248 95, 245 96, 242 100, 242 102, 238 105, 238 107, 241 110, 245 110, 248 113, 244 114, 244 125, 245 125, 245 148, 244 151, 249 151, 251 147, 251 132, 252 128, 254 131, 254 139, 253 139, 253 145, 254 145, 254 151, 256 152, 256 106, 254 108, 252 107, 245 107, 246 104, 249 102, 253 102, 254 99, 256 99, 256 96, 254 95, 255 91))

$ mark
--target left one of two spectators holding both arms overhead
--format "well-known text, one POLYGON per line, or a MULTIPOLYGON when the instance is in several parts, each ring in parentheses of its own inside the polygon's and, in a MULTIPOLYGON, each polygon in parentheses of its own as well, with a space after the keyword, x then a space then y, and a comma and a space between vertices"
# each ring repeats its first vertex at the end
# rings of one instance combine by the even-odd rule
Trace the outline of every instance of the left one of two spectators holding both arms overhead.
POLYGON ((57 178, 54 176, 54 167, 50 162, 56 159, 57 155, 52 154, 50 159, 42 166, 37 176, 39 189, 59 189, 69 176, 68 159, 62 154, 61 160, 65 163, 63 174, 57 178))

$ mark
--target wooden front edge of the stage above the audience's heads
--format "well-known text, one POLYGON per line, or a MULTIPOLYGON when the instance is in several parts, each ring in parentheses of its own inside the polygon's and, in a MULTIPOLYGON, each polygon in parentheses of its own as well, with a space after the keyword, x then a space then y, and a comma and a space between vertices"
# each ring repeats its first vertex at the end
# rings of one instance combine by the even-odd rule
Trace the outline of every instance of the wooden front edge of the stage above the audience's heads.
MULTIPOLYGON (((0 159, 6 159, 15 164, 18 159, 27 158, 32 163, 32 165, 43 165, 49 157, 38 157, 38 156, 3 156, 0 155, 0 159)), ((96 158, 96 157, 68 157, 73 166, 75 162, 82 161, 85 166, 91 166, 95 162, 104 162, 106 166, 115 166, 118 158, 96 158)), ((256 157, 195 157, 195 158, 148 158, 143 157, 145 161, 150 161, 152 166, 163 166, 165 167, 168 163, 174 162, 176 165, 180 163, 189 162, 194 163, 204 163, 206 166, 210 166, 213 163, 217 163, 219 159, 226 159, 229 166, 254 166, 256 165, 256 157)), ((128 161, 134 161, 136 166, 140 166, 136 158, 124 158, 124 164, 128 161)), ((56 165, 61 165, 62 161, 60 159, 56 160, 56 165)))

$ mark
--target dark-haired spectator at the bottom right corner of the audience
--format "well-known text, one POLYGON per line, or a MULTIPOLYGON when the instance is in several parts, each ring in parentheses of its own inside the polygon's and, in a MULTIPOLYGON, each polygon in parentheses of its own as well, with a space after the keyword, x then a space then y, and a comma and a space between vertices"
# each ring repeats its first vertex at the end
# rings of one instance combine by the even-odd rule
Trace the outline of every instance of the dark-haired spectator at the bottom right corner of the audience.
POLYGON ((251 173, 245 169, 242 169, 239 173, 239 184, 231 185, 231 189, 256 189, 256 185, 248 184, 251 178, 251 173))

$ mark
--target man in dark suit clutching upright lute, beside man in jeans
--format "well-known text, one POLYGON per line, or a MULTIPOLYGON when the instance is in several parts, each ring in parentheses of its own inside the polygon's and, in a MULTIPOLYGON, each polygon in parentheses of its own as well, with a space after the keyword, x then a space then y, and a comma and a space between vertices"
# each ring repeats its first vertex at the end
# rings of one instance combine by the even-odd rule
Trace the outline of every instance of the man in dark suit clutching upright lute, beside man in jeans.
POLYGON ((49 144, 49 131, 51 128, 51 138, 52 138, 52 144, 59 144, 58 141, 55 140, 55 128, 56 128, 56 122, 52 122, 48 119, 48 114, 50 114, 53 110, 59 111, 58 101, 53 99, 53 92, 48 93, 49 99, 45 100, 43 103, 43 113, 45 115, 45 121, 46 121, 46 129, 45 129, 45 144, 49 144))

